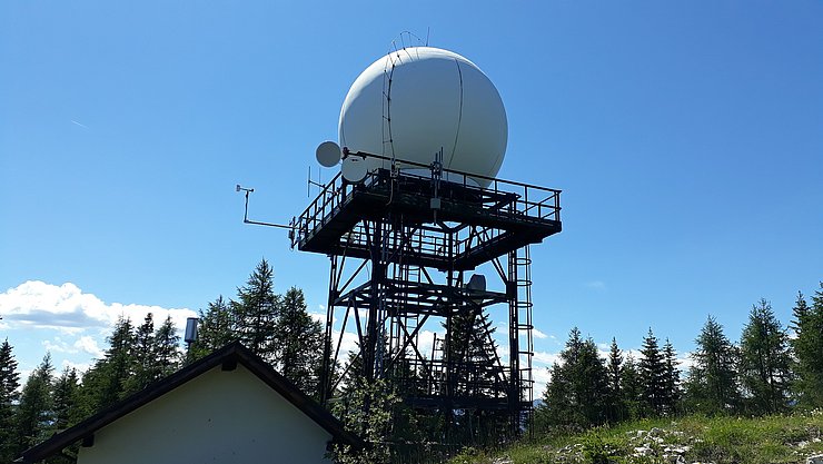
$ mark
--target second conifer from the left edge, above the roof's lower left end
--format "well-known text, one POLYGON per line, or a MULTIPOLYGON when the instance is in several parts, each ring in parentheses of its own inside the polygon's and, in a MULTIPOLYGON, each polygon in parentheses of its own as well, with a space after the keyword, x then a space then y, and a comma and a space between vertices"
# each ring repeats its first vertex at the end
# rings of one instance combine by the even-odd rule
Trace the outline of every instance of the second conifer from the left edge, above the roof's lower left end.
POLYGON ((54 366, 51 355, 46 354, 42 363, 29 375, 20 394, 20 404, 14 414, 14 453, 20 453, 44 440, 53 431, 54 423, 51 384, 54 366))

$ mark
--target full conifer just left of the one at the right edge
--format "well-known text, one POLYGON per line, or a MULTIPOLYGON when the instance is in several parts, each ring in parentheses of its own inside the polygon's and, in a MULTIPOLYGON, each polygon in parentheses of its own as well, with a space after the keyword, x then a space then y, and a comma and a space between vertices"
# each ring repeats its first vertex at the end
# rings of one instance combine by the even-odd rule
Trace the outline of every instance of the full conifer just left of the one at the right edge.
POLYGON ((791 355, 789 339, 772 305, 761 299, 752 306, 741 335, 741 383, 750 412, 774 414, 789 407, 791 355))

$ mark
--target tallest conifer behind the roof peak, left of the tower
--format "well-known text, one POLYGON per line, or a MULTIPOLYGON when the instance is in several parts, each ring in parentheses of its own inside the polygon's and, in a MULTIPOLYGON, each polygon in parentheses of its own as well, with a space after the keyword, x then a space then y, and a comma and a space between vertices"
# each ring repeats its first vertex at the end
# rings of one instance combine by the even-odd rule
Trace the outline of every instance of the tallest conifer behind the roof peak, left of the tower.
POLYGON ((257 265, 246 282, 238 288, 239 302, 231 302, 237 314, 238 339, 251 352, 272 363, 276 356, 274 326, 279 302, 274 292, 274 272, 266 259, 257 265))

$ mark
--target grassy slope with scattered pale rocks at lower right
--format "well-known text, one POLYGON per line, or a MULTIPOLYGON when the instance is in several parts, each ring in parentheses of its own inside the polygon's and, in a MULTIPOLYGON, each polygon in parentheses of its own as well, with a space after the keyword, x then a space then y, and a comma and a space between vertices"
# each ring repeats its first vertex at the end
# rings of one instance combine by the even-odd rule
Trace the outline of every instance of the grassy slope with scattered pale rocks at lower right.
POLYGON ((535 437, 494 454, 468 450, 450 464, 806 463, 810 456, 823 455, 822 430, 821 411, 760 418, 641 421, 577 435, 535 437))

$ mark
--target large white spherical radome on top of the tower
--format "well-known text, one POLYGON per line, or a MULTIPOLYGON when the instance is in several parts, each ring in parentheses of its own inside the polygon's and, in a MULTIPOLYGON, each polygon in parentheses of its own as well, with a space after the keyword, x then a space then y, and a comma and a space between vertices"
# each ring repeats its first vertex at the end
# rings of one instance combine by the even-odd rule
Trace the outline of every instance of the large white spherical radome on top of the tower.
POLYGON ((493 178, 506 154, 508 124, 497 89, 472 61, 412 47, 378 59, 355 80, 340 109, 339 136, 350 152, 425 165, 443 149, 444 168, 493 178))

